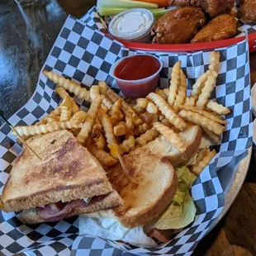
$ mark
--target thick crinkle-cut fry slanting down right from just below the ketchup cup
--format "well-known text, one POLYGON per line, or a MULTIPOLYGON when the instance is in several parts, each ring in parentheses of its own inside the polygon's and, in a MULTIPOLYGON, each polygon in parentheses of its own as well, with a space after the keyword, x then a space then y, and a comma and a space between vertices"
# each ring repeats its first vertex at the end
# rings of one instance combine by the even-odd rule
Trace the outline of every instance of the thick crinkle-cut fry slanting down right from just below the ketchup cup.
POLYGON ((162 112, 162 114, 170 121, 173 126, 178 128, 178 130, 185 130, 187 127, 187 124, 185 121, 183 121, 183 118, 178 116, 173 109, 168 105, 167 102, 164 101, 164 98, 159 96, 158 94, 154 92, 150 92, 147 96, 149 100, 154 102, 154 104, 159 107, 159 111, 162 112))

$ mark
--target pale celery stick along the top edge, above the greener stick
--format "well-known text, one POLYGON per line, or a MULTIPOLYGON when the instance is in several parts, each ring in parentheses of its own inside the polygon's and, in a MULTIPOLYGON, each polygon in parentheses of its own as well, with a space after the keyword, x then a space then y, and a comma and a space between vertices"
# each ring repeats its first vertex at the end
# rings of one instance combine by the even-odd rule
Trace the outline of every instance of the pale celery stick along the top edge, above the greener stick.
POLYGON ((139 2, 131 0, 97 0, 97 7, 112 7, 112 8, 157 8, 158 4, 149 2, 139 2))

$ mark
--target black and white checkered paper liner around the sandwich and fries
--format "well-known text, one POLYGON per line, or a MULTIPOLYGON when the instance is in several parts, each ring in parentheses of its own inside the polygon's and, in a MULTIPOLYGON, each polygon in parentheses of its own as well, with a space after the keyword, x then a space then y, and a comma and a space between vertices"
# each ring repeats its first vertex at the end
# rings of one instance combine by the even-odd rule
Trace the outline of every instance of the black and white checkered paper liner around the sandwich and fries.
MULTIPOLYGON (((93 25, 93 24, 92 24, 93 25)), ((99 80, 106 80, 116 88, 115 81, 108 74, 111 64, 122 55, 135 54, 123 48, 121 43, 87 26, 82 21, 69 17, 59 33, 55 45, 46 59, 43 69, 72 78, 74 82, 89 88, 99 80)), ((150 53, 152 54, 152 53, 150 53)), ((192 225, 178 233, 168 244, 159 248, 143 249, 116 241, 95 238, 90 235, 78 236, 78 219, 72 217, 55 223, 24 225, 17 213, 0 212, 0 251, 11 255, 26 252, 30 255, 119 255, 123 251, 130 254, 180 254, 190 255, 198 241, 211 229, 211 225, 224 206, 224 193, 216 169, 225 166, 251 145, 251 117, 249 102, 249 62, 248 45, 245 41, 220 50, 220 75, 217 80, 216 97, 219 102, 230 107, 228 126, 220 145, 220 153, 197 178, 191 194, 197 206, 197 216, 192 225)), ((168 74, 173 63, 181 59, 183 69, 191 85, 209 64, 209 53, 164 54, 155 53, 164 61, 160 86, 168 84, 168 74)), ((36 92, 20 111, 9 121, 12 125, 31 125, 50 113, 58 104, 55 84, 41 72, 36 92)), ((88 107, 86 102, 78 103, 88 107)), ((0 128, 0 192, 21 147, 17 145, 10 128, 4 124, 0 128)))

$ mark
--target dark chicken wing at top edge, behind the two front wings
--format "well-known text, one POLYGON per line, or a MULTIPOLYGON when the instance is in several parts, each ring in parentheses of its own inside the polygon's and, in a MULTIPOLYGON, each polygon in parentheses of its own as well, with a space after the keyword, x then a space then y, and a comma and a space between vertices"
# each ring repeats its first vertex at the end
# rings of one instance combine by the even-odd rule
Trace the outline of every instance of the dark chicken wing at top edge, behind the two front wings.
POLYGON ((235 0, 191 0, 191 5, 201 7, 211 17, 216 17, 220 13, 230 12, 235 0))

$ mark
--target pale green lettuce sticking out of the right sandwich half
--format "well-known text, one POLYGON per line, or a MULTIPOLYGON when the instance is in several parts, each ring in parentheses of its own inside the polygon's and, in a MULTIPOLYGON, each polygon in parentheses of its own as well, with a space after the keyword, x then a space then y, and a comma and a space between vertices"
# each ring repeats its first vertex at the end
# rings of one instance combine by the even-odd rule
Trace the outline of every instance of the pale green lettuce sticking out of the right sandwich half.
POLYGON ((150 229, 182 229, 192 223, 196 216, 197 209, 188 190, 197 177, 186 166, 176 168, 176 171, 178 191, 164 212, 149 223, 150 229))

